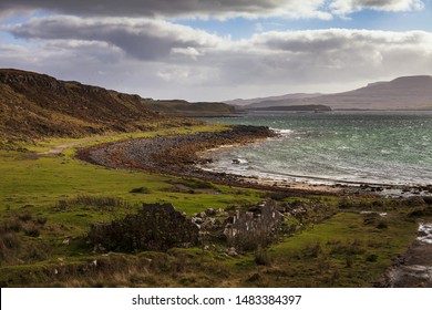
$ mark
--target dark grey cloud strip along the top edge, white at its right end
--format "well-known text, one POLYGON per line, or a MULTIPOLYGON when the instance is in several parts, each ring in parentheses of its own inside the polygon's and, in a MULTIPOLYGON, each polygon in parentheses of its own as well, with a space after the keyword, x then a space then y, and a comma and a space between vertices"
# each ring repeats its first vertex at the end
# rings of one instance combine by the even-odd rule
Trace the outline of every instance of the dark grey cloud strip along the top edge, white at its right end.
POLYGON ((2 0, 0 12, 43 10, 104 17, 298 17, 328 18, 319 8, 323 0, 2 0), (18 2, 18 3, 17 3, 18 2))

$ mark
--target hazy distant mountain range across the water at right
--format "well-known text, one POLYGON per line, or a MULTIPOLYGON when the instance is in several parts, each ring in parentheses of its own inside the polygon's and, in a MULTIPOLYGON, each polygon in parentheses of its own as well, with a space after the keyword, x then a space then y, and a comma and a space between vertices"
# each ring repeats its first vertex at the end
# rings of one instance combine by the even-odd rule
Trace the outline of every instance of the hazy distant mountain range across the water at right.
POLYGON ((245 110, 292 105, 326 105, 332 110, 432 110, 432 76, 402 76, 336 94, 300 93, 226 103, 245 110))

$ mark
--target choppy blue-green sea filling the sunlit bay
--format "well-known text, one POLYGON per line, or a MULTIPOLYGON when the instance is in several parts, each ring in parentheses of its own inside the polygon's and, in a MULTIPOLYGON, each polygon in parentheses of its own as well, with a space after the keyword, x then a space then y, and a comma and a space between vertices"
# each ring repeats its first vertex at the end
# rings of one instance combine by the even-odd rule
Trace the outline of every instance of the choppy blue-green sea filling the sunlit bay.
POLYGON ((432 111, 248 112, 212 122, 279 136, 213 152, 205 169, 311 184, 432 184, 432 111))

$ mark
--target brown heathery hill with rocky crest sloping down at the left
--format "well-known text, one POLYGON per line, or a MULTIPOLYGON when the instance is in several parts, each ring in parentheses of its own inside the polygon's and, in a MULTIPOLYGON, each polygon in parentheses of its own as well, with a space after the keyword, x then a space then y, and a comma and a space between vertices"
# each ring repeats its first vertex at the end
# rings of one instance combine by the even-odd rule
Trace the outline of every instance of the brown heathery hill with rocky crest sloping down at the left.
POLYGON ((146 108, 143 101, 138 95, 1 69, 0 141, 80 137, 182 123, 146 108))

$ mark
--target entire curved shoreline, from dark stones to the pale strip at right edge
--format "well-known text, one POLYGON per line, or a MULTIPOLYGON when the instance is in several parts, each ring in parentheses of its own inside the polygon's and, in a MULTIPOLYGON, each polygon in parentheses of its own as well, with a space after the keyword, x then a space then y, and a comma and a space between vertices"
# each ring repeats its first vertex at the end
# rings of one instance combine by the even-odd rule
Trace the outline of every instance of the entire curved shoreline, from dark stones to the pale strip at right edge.
POLYGON ((292 194, 356 194, 393 197, 432 195, 432 186, 423 188, 419 186, 343 182, 319 184, 306 179, 274 179, 205 168, 206 164, 213 163, 215 152, 223 152, 227 148, 240 147, 250 143, 260 143, 264 140, 277 136, 278 133, 268 127, 235 125, 230 130, 222 132, 133 138, 99 144, 79 149, 76 157, 110 168, 193 177, 220 185, 292 194))

